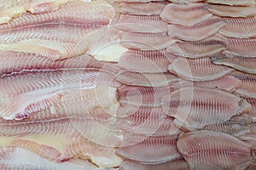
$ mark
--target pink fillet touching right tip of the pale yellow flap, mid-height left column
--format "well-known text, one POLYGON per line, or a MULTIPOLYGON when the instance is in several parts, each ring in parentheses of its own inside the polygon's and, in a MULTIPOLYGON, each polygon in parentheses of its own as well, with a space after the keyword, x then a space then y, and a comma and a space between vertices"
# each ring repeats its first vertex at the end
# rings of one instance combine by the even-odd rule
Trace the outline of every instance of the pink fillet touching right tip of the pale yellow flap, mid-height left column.
POLYGON ((160 73, 167 72, 168 65, 176 58, 176 55, 167 53, 166 50, 128 50, 121 55, 119 66, 126 71, 160 73))

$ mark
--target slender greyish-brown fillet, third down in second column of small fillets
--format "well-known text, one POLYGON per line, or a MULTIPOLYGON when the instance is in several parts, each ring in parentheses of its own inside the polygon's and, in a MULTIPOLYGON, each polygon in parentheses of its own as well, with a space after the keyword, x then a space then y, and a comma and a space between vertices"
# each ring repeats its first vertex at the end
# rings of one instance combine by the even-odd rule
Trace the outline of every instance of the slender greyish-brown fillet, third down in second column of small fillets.
POLYGON ((226 48, 227 44, 224 40, 218 37, 210 37, 199 41, 175 42, 167 48, 167 51, 186 58, 198 59, 218 54, 226 48))

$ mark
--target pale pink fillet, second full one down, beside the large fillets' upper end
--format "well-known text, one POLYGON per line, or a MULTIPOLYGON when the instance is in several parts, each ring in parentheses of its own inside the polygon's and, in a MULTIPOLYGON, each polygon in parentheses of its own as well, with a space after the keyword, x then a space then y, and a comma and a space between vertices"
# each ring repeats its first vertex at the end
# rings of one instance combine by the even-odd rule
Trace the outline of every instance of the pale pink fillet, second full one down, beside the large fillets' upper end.
POLYGON ((114 26, 122 31, 159 33, 166 32, 168 24, 159 15, 121 14, 114 26))

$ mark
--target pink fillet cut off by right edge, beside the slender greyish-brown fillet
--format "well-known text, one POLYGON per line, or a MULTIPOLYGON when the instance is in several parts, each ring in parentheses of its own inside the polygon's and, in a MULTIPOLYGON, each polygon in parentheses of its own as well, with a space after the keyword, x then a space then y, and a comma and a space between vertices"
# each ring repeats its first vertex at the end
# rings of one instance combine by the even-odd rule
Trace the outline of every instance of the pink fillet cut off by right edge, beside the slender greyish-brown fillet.
POLYGON ((226 53, 242 55, 243 57, 255 57, 256 38, 229 38, 226 53))

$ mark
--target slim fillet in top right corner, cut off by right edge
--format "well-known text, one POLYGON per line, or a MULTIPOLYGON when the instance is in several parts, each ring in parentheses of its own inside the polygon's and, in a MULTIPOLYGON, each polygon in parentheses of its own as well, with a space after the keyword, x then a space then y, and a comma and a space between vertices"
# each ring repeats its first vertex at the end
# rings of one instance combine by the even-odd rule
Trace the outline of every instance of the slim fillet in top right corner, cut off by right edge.
POLYGON ((242 7, 242 6, 228 6, 222 4, 207 4, 207 10, 218 16, 226 17, 247 17, 256 14, 256 8, 253 7, 242 7))

